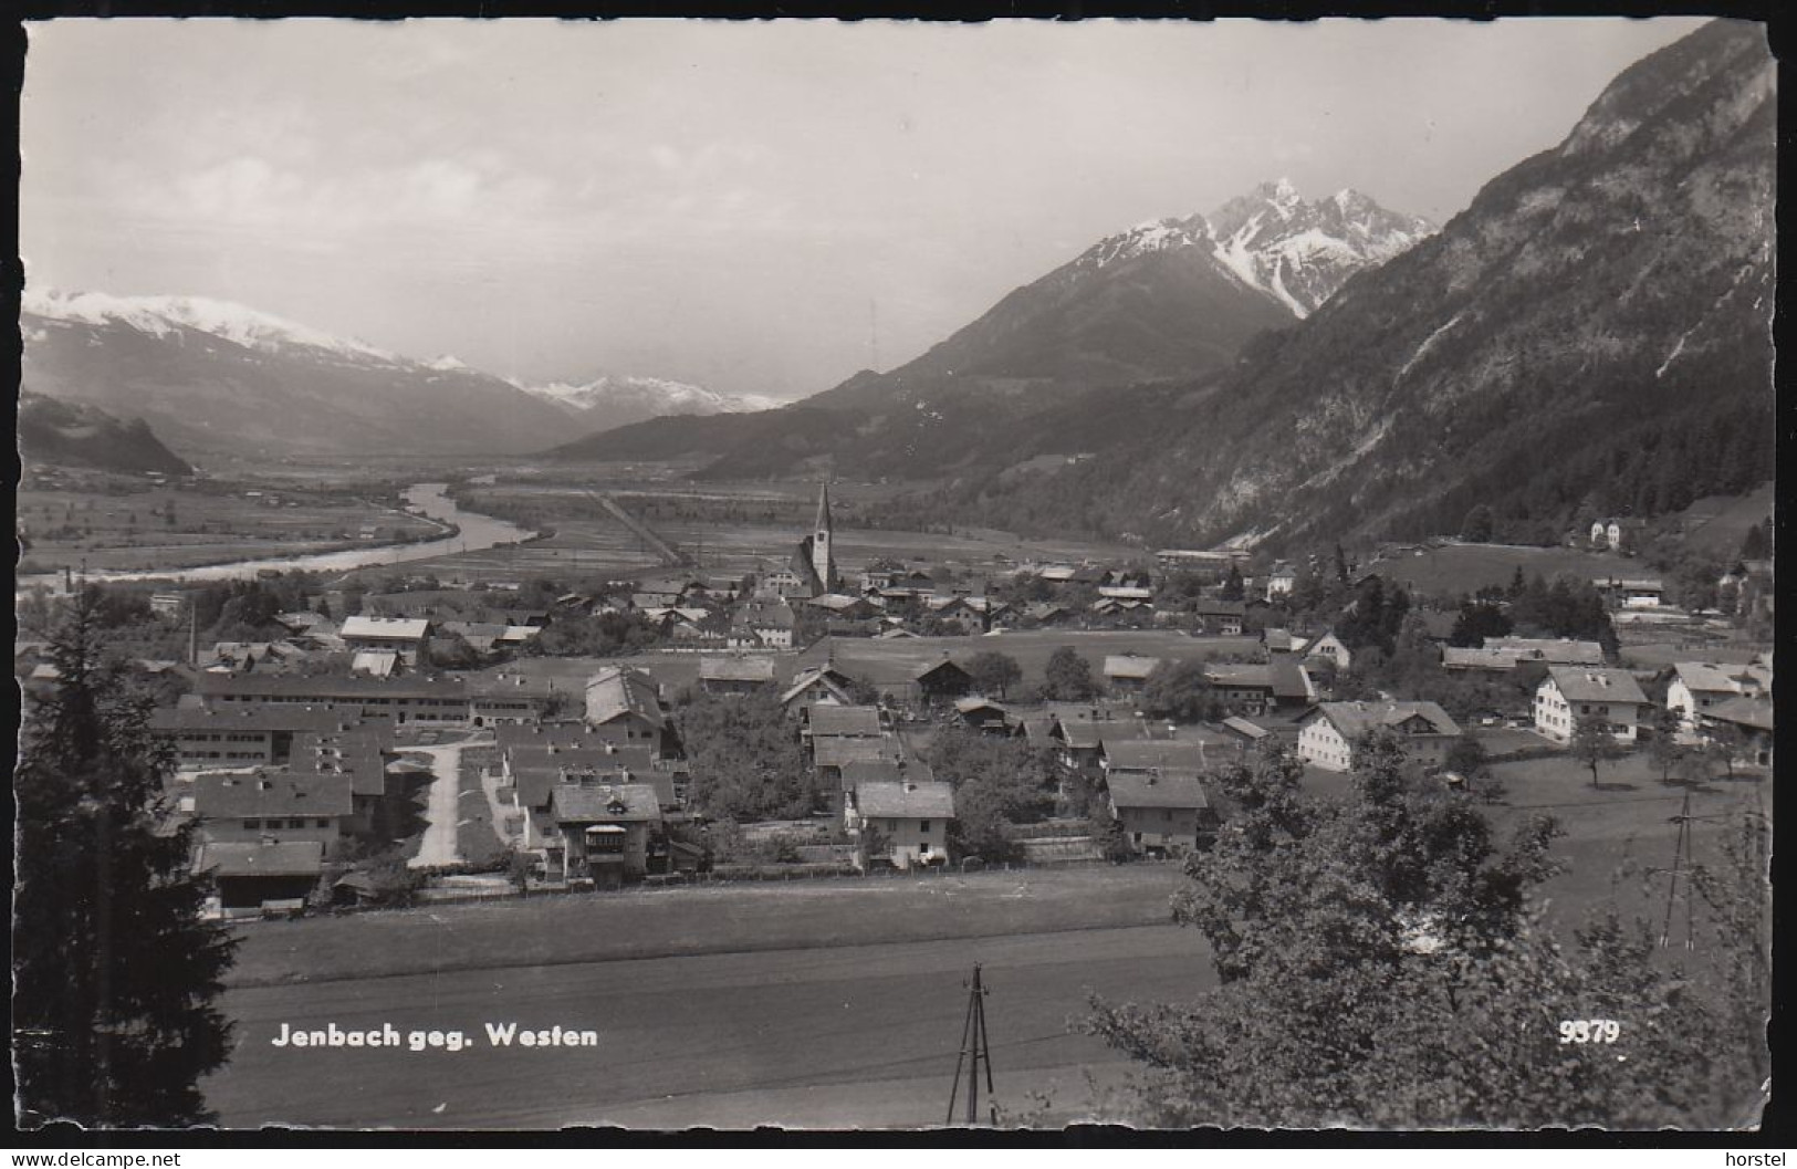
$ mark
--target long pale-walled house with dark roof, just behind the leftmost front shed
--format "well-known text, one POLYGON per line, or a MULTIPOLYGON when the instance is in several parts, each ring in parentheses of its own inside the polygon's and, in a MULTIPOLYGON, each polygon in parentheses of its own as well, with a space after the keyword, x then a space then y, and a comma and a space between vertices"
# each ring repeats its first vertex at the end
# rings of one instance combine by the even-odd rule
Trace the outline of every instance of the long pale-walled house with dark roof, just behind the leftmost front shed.
POLYGON ((336 772, 207 772, 194 777, 194 817, 208 843, 309 840, 331 849, 352 834, 352 782, 336 772))

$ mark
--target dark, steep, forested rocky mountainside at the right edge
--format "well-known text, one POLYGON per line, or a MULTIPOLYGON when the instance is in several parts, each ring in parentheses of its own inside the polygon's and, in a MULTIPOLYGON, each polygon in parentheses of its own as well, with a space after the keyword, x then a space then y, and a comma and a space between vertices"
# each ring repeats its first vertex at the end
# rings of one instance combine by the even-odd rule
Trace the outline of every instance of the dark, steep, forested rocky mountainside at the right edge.
POLYGON ((1204 545, 1544 532, 1774 475, 1774 59, 1714 22, 1623 72, 1558 147, 1267 340, 1188 419, 969 520, 1204 545))

